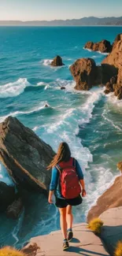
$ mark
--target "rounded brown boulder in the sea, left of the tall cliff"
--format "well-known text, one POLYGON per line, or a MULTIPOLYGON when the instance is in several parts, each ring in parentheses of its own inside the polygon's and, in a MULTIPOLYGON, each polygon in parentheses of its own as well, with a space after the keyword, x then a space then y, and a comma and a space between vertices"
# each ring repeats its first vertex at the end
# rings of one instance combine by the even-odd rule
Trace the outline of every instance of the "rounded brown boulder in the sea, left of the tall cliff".
POLYGON ((70 66, 72 76, 76 81, 76 90, 88 91, 96 84, 98 68, 91 58, 80 58, 70 66))

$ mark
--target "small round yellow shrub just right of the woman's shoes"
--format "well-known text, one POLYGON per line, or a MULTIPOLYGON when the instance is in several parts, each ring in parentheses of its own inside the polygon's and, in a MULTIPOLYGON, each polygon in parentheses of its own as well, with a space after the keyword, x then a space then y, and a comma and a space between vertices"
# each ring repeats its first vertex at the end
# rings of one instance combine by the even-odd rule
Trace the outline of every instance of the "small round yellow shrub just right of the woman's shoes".
POLYGON ((103 226, 103 221, 101 221, 99 218, 95 218, 88 224, 88 228, 91 229, 96 235, 101 233, 101 229, 103 226))

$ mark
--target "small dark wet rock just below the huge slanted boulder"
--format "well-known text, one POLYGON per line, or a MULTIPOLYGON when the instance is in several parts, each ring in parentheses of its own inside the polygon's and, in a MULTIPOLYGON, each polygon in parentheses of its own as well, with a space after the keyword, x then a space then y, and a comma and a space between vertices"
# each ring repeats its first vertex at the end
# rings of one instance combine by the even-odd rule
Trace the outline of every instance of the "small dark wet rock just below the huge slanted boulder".
POLYGON ((15 200, 6 210, 7 217, 17 219, 23 210, 23 202, 21 198, 15 200))

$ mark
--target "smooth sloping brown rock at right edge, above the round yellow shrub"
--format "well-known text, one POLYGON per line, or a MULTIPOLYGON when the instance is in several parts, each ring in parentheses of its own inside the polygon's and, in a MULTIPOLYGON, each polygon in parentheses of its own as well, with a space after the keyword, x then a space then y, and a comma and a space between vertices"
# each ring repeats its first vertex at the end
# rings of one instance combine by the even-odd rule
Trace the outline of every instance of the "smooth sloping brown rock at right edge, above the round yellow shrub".
POLYGON ((122 206, 122 176, 118 176, 114 184, 98 198, 97 204, 91 208, 87 215, 87 222, 110 208, 122 206))

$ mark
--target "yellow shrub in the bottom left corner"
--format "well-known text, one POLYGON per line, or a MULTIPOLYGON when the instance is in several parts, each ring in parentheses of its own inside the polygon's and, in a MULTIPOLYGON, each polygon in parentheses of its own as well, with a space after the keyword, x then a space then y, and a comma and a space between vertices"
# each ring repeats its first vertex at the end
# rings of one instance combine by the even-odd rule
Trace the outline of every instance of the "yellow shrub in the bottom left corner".
POLYGON ((12 247, 4 247, 0 249, 0 256, 25 256, 25 254, 12 247))

